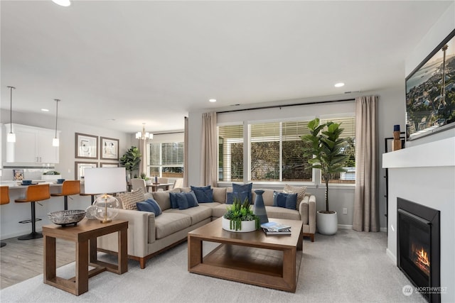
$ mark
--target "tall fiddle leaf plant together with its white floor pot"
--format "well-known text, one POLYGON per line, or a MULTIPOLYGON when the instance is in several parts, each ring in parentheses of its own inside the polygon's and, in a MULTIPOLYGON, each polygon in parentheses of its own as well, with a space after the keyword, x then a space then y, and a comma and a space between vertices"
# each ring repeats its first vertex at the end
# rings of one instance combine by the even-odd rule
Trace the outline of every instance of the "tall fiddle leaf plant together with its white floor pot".
POLYGON ((316 118, 308 123, 310 133, 301 136, 301 139, 309 143, 304 149, 304 155, 309 158, 310 168, 321 170, 322 180, 326 184, 326 210, 317 211, 316 226, 319 233, 333 235, 338 230, 338 216, 336 211, 328 207, 328 182, 331 176, 337 172, 346 172, 349 155, 343 153, 346 147, 346 139, 341 138, 343 128, 341 123, 332 121, 321 124, 316 118))

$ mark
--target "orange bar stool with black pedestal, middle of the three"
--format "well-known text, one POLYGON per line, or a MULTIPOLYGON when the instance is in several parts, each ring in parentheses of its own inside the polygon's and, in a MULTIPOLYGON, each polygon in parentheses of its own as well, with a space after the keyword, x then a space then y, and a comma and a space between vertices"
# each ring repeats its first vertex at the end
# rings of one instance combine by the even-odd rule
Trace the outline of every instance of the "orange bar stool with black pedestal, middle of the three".
MULTIPOLYGON (((28 185, 26 198, 25 199, 16 199, 16 203, 25 203, 28 202, 31 204, 31 233, 28 235, 18 237, 18 240, 31 240, 37 238, 43 238, 42 233, 36 232, 36 212, 35 212, 35 202, 43 201, 50 199, 49 193, 49 184, 38 184, 38 185, 28 185)), ((19 223, 28 223, 28 221, 21 221, 19 223)))

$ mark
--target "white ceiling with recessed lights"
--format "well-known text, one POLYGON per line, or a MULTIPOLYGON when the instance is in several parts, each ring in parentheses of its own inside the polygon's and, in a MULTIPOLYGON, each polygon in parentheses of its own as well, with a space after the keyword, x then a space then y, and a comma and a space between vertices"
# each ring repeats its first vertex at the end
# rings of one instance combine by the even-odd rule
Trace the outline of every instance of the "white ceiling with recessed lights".
POLYGON ((451 3, 1 1, 1 108, 11 85, 16 111, 62 99, 59 117, 157 133, 188 111, 397 87, 451 3))

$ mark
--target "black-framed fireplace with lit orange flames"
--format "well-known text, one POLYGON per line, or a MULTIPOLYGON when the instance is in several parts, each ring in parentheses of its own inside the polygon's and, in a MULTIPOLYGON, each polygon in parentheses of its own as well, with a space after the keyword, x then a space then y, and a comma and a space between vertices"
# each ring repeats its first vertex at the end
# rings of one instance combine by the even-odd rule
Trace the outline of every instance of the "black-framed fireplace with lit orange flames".
POLYGON ((439 215, 397 198, 397 266, 429 302, 441 302, 439 215))

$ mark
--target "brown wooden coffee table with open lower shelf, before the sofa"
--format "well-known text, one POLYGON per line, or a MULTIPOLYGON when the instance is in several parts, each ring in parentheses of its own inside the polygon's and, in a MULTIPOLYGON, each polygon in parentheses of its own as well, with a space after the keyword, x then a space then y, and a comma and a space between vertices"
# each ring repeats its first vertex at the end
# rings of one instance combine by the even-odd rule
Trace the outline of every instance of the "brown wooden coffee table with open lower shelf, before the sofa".
POLYGON ((269 219, 291 226, 290 236, 267 236, 262 230, 233 233, 221 218, 188 233, 188 271, 262 287, 296 292, 302 222, 269 219), (221 243, 203 257, 203 241, 221 243))

